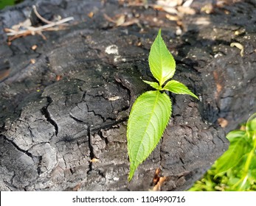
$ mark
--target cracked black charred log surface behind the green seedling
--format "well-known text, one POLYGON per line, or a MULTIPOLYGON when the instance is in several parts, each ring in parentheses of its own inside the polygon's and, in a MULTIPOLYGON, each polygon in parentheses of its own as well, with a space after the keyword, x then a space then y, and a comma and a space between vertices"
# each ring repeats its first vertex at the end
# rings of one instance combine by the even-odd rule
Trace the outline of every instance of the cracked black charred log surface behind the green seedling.
POLYGON ((191 7, 196 14, 182 16, 181 35, 164 11, 118 1, 24 1, 2 10, 0 190, 150 191, 156 168, 162 191, 190 188, 228 148, 226 132, 256 112, 255 1, 210 14, 201 1, 191 7), (30 18, 32 4, 49 20, 75 21, 44 32, 46 40, 30 35, 8 45, 3 29, 30 18), (136 24, 116 26, 104 14, 136 24), (165 134, 128 182, 126 124, 136 97, 151 89, 142 79, 153 80, 148 54, 159 27, 176 60, 173 79, 200 101, 169 93, 165 134))

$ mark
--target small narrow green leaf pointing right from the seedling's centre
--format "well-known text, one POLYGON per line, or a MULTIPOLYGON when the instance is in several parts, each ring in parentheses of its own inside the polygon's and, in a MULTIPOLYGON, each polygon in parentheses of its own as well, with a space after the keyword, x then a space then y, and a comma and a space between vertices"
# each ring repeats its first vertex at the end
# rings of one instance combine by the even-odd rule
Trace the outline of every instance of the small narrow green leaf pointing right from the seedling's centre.
POLYGON ((169 82, 167 82, 162 90, 169 90, 173 93, 189 94, 198 99, 198 97, 192 91, 190 91, 187 86, 176 80, 170 80, 169 82))

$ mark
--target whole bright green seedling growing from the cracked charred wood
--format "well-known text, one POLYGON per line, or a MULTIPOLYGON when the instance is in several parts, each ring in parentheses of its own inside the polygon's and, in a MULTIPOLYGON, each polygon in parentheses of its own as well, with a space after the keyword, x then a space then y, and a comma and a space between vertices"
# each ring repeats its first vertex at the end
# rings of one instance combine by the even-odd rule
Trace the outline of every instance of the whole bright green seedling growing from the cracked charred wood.
POLYGON ((136 168, 155 149, 170 119, 172 104, 165 90, 173 93, 189 94, 196 99, 185 85, 170 80, 176 71, 176 63, 161 37, 161 29, 154 40, 148 57, 153 77, 158 82, 143 82, 156 90, 142 93, 134 102, 128 119, 127 139, 130 160, 128 180, 134 176, 136 168), (170 81, 169 81, 170 80, 170 81))

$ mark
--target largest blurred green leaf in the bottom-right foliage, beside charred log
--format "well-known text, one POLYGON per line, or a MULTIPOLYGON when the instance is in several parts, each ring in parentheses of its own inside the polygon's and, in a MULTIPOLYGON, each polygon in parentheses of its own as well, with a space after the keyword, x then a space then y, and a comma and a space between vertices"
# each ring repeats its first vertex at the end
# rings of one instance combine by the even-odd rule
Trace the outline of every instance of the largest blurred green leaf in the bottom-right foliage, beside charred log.
POLYGON ((216 173, 222 173, 236 166, 241 158, 250 152, 252 145, 247 141, 244 131, 229 132, 229 149, 216 161, 216 173))

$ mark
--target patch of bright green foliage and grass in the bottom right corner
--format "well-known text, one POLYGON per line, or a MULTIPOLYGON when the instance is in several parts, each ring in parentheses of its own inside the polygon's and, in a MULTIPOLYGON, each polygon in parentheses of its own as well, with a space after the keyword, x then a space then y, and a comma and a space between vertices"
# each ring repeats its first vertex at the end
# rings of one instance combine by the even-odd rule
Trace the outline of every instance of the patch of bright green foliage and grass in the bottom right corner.
POLYGON ((229 149, 188 191, 256 191, 256 113, 226 138, 229 149))

